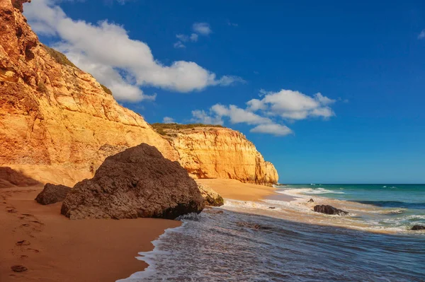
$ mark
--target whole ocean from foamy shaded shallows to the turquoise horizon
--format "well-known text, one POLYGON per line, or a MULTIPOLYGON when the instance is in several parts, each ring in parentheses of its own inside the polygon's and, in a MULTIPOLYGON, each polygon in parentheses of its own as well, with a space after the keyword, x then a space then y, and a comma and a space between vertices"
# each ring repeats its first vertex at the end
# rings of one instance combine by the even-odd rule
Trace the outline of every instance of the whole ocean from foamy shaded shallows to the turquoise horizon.
POLYGON ((149 267, 122 281, 425 281, 425 232, 409 230, 425 225, 425 185, 277 188, 180 218, 140 253, 149 267), (315 213, 315 204, 349 216, 315 213))

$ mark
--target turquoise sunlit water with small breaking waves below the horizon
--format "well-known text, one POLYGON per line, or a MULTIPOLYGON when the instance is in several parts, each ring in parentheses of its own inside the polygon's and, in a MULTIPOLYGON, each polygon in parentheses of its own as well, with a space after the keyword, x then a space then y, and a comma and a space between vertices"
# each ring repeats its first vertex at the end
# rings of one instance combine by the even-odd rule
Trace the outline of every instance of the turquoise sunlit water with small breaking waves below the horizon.
MULTIPOLYGON (((382 213, 362 215, 364 221, 375 221, 384 227, 409 229, 425 225, 425 184, 290 184, 280 191, 365 204, 382 213)), ((339 208, 344 208, 342 204, 339 208)))

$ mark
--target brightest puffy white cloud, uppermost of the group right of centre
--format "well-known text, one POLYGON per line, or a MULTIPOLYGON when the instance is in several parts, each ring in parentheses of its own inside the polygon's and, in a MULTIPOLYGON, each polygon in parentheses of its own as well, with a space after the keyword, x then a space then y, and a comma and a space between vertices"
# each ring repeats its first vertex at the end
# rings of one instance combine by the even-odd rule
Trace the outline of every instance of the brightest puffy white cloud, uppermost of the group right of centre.
POLYGON ((261 110, 284 119, 329 118, 335 115, 329 105, 336 100, 329 99, 321 93, 310 97, 293 90, 280 90, 276 93, 261 90, 261 94, 264 95, 263 99, 252 99, 246 103, 249 110, 254 112, 261 110))

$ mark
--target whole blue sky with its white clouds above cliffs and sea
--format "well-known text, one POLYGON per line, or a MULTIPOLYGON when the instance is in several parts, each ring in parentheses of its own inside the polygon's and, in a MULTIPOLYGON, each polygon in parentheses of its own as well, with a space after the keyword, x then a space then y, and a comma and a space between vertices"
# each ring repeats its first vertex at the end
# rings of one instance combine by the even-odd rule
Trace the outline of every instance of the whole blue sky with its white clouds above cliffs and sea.
POLYGON ((242 131, 280 182, 424 183, 425 2, 280 2, 39 0, 25 14, 148 122, 242 131))

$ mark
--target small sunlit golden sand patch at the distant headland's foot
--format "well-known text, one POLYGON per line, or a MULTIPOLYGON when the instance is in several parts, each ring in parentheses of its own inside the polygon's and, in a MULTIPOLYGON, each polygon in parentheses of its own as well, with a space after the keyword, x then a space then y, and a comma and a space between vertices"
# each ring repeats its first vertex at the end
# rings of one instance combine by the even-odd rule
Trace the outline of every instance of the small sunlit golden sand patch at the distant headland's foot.
POLYGON ((237 180, 205 179, 196 180, 196 182, 208 185, 225 199, 259 201, 276 194, 276 189, 273 187, 247 184, 237 180))

